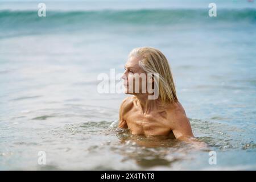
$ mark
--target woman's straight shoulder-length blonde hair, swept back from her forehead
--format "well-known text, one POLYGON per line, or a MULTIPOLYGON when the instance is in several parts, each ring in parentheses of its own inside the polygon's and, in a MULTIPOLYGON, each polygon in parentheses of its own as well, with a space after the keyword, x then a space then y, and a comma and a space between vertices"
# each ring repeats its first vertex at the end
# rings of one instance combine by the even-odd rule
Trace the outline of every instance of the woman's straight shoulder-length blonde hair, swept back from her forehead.
MULTIPOLYGON (((174 84, 174 79, 172 77, 171 68, 161 51, 151 47, 139 47, 134 48, 129 57, 135 56, 139 59, 139 66, 146 73, 158 73, 158 80, 156 84, 159 88, 159 97, 162 104, 172 104, 178 101, 176 96, 176 89, 174 84)), ((155 75, 155 76, 156 76, 155 75)))

